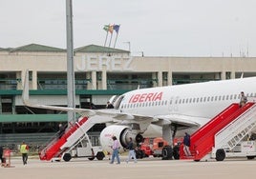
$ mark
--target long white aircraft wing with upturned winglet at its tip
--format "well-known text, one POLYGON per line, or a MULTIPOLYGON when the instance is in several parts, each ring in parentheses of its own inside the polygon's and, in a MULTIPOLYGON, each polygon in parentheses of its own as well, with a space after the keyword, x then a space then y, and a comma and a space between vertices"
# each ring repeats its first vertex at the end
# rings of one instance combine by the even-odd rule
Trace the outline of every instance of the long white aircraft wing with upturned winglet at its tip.
POLYGON ((147 116, 142 114, 133 114, 121 112, 118 109, 75 109, 75 108, 66 108, 66 107, 54 107, 46 106, 39 104, 32 104, 29 99, 29 71, 26 73, 24 89, 22 92, 23 103, 32 108, 39 109, 54 109, 54 110, 63 110, 63 111, 75 111, 82 116, 106 116, 112 118, 113 122, 128 122, 128 123, 138 123, 143 126, 148 126, 150 123, 154 123, 159 126, 168 125, 168 124, 177 124, 185 127, 198 127, 199 123, 196 121, 199 120, 197 117, 192 116, 183 116, 183 115, 158 115, 158 116, 147 116))

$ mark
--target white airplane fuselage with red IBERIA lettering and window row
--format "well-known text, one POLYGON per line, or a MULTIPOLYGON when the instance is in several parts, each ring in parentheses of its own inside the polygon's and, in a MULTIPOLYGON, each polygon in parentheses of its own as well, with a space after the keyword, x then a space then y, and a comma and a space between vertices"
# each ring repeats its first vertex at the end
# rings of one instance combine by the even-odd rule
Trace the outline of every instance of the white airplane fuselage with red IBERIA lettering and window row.
POLYGON ((125 113, 192 118, 202 126, 231 103, 239 103, 241 91, 248 100, 255 98, 256 77, 136 89, 123 94, 117 106, 125 113))

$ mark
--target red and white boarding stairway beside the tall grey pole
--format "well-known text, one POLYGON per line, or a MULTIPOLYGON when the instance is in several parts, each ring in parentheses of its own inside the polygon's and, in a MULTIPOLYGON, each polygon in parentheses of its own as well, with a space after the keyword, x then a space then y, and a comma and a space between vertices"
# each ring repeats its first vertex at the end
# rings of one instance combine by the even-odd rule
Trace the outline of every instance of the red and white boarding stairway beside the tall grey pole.
POLYGON ((56 134, 52 141, 42 150, 39 151, 40 160, 52 160, 54 157, 60 157, 65 151, 76 146, 87 136, 87 131, 96 123, 92 118, 81 117, 78 122, 71 124, 65 133, 61 136, 56 134))

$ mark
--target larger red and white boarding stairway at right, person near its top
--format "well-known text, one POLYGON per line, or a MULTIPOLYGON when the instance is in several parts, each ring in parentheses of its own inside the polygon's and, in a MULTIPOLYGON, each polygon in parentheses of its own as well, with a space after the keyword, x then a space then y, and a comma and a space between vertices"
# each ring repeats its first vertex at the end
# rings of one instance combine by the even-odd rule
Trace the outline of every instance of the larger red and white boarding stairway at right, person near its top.
POLYGON ((234 149, 255 127, 255 103, 246 103, 243 108, 239 104, 231 104, 191 135, 191 156, 184 155, 181 144, 180 159, 200 161, 214 156, 216 160, 222 160, 219 155, 223 153, 220 152, 234 149))

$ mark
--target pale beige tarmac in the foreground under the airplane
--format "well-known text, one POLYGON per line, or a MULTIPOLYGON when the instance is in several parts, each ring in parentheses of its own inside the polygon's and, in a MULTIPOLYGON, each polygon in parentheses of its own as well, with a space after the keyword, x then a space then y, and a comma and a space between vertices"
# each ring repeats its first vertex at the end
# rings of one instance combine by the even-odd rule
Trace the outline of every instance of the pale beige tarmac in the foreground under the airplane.
POLYGON ((108 159, 90 161, 87 158, 70 162, 40 161, 29 157, 28 165, 21 157, 11 159, 11 168, 0 168, 1 179, 211 179, 255 178, 256 160, 245 158, 225 159, 222 162, 192 160, 139 159, 138 163, 125 161, 109 164, 108 159))

